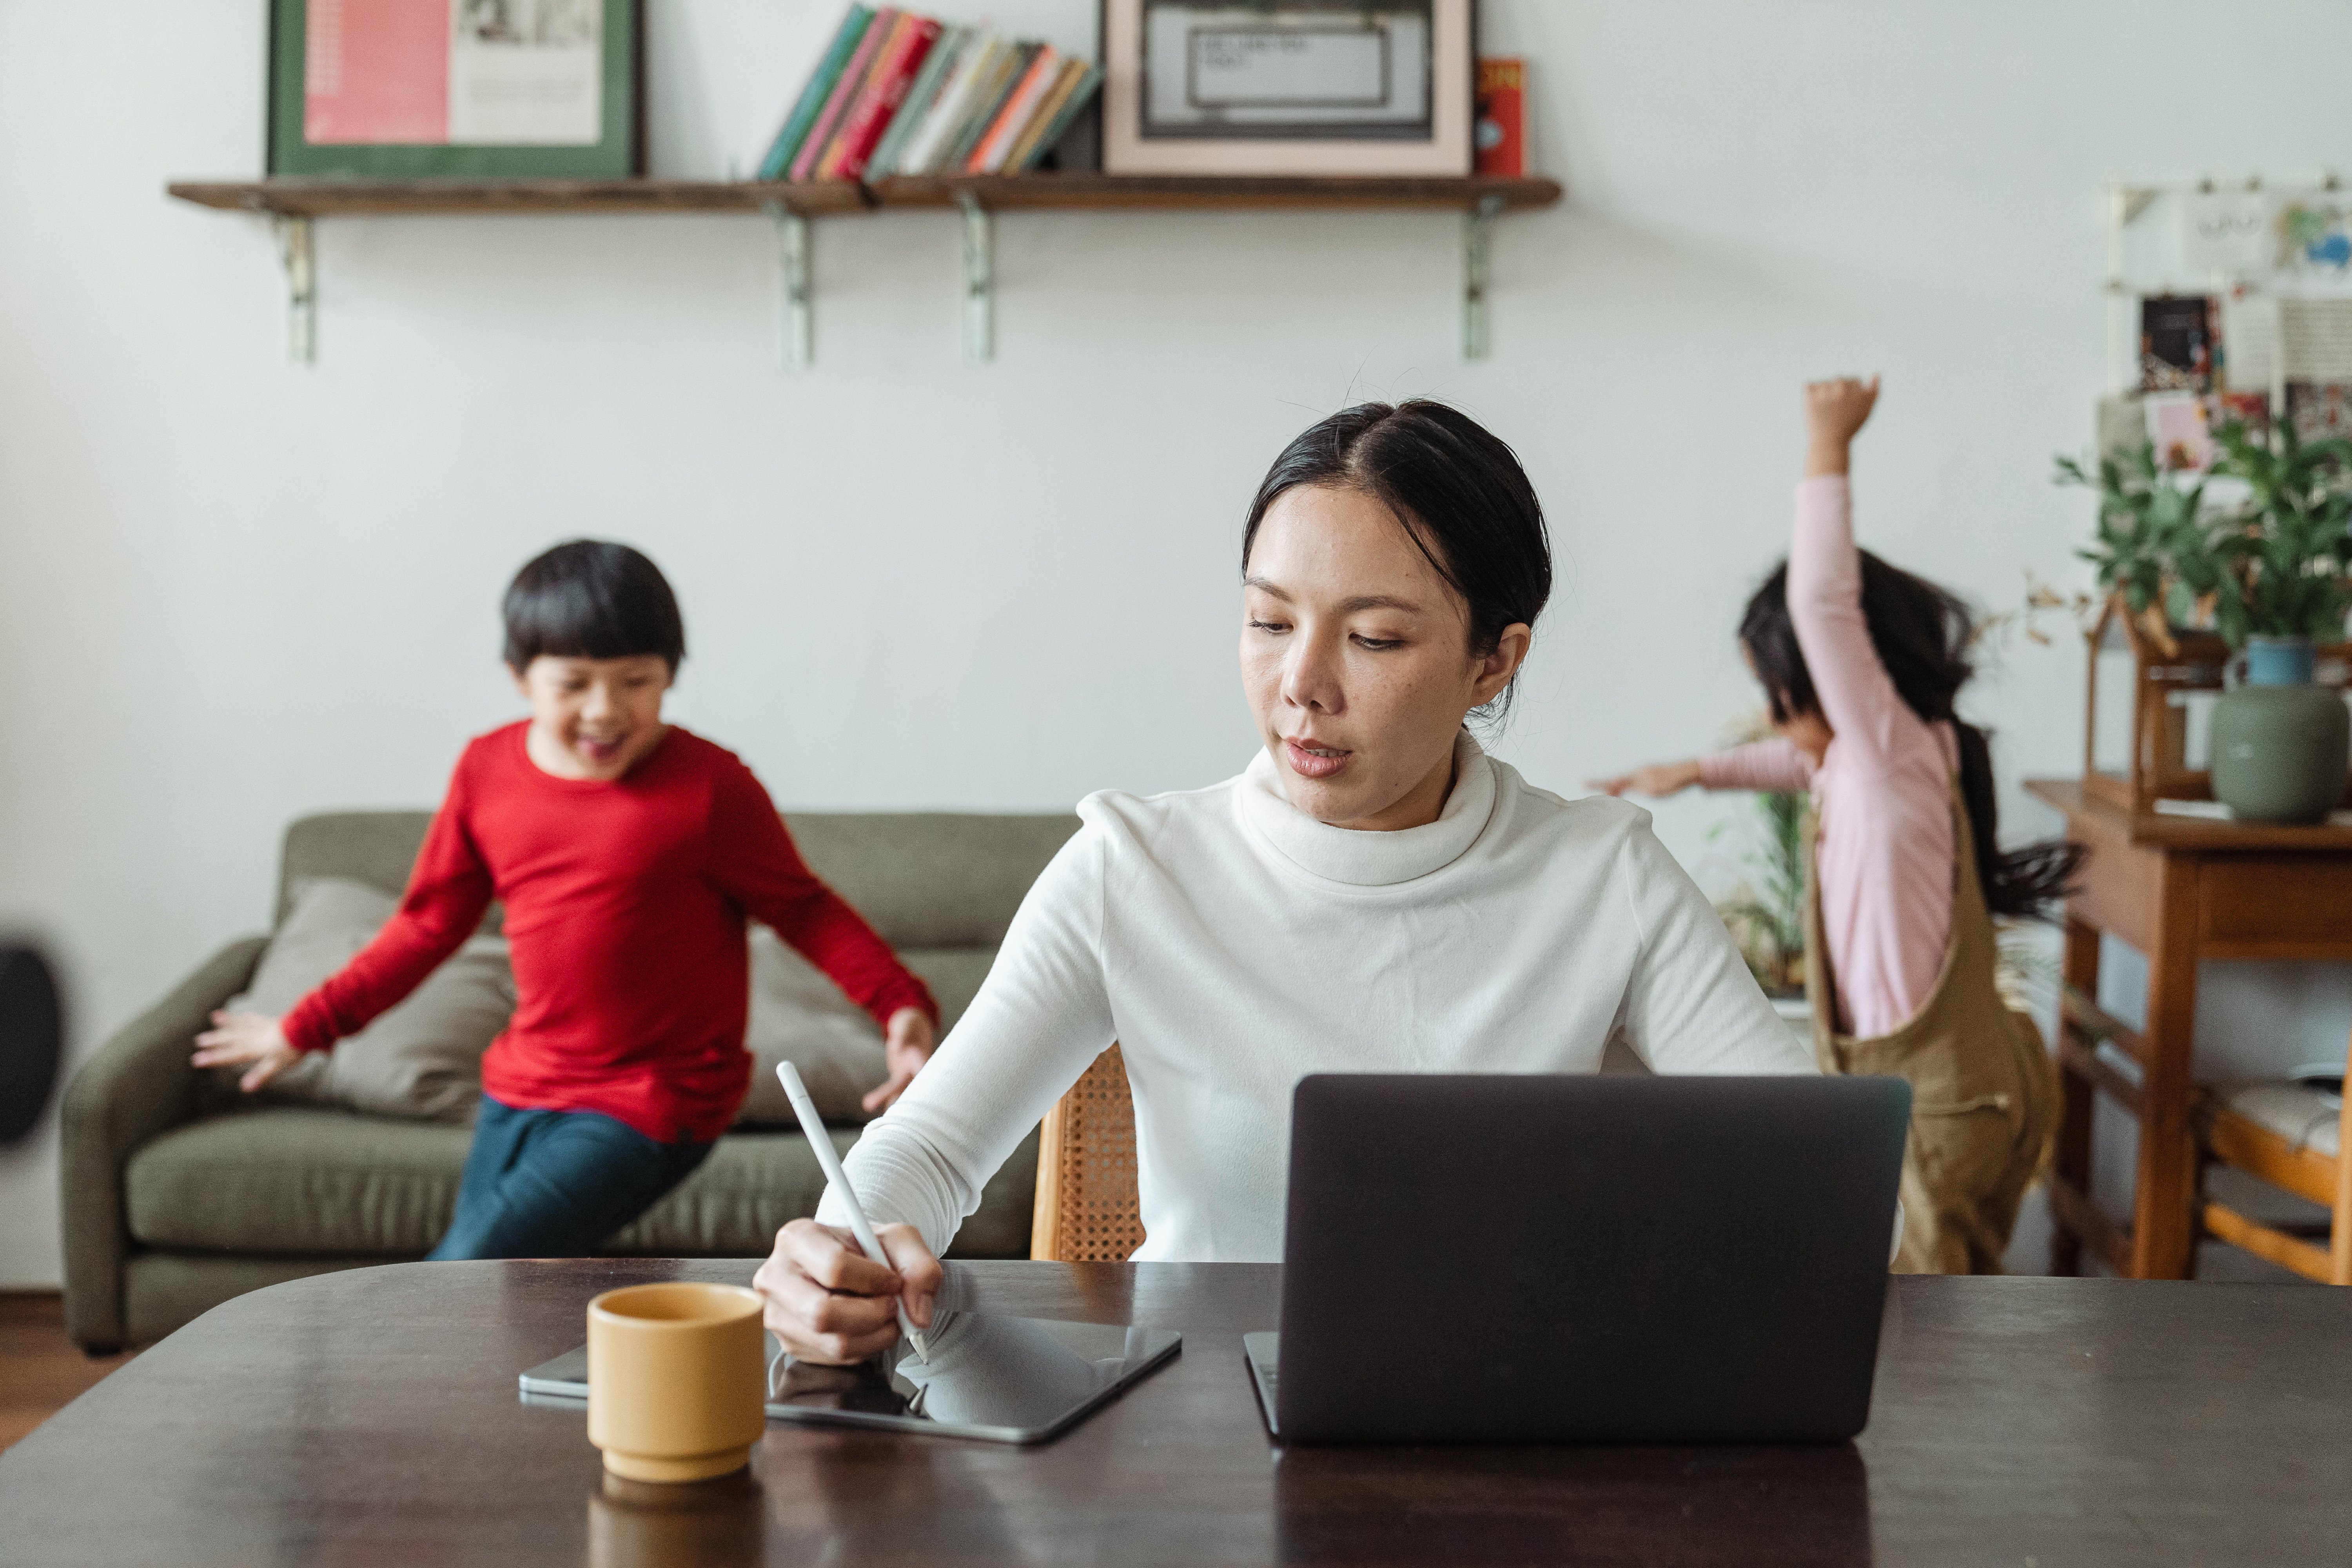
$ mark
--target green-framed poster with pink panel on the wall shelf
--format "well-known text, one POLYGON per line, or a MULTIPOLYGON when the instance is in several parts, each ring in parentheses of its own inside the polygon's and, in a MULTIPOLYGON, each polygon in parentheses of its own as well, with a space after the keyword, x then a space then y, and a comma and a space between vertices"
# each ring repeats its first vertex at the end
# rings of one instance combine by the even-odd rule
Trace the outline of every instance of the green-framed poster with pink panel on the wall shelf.
POLYGON ((270 174, 630 179, 642 0, 270 0, 270 174))

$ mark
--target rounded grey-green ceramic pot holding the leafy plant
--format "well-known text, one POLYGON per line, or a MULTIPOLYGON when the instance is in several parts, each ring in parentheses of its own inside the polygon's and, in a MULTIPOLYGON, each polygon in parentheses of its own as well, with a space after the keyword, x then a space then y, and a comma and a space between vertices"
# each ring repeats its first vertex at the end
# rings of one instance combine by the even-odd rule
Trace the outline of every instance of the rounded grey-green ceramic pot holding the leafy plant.
POLYGON ((2312 684, 2310 637, 2251 637, 2246 684, 2213 705, 2213 799, 2249 823, 2319 823, 2347 769, 2352 712, 2312 684))

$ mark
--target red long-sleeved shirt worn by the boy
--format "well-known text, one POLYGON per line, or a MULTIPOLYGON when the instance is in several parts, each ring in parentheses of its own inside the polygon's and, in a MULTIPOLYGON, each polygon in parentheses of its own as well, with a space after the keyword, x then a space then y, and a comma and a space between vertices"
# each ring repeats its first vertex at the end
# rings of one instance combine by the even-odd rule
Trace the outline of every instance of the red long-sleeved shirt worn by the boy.
POLYGON ((616 780, 555 778, 529 724, 475 738, 426 832, 400 912, 282 1020, 325 1051, 407 997, 506 900, 515 1016, 482 1088, 708 1143, 750 1086, 743 919, 774 926, 875 1020, 938 1018, 929 987, 793 849, 743 762, 675 724, 616 780))

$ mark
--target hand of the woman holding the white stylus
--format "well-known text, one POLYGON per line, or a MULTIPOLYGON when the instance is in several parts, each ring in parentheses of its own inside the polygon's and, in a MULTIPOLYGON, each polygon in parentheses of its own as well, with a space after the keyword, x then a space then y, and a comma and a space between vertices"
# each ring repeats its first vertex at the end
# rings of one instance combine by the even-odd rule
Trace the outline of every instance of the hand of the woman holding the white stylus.
POLYGON ((858 1251, 856 1237, 816 1220, 776 1232, 750 1288, 767 1302, 762 1321, 797 1361, 847 1366, 898 1338, 898 1298, 915 1328, 931 1326, 931 1302, 948 1272, 913 1225, 877 1225, 889 1262, 858 1251))

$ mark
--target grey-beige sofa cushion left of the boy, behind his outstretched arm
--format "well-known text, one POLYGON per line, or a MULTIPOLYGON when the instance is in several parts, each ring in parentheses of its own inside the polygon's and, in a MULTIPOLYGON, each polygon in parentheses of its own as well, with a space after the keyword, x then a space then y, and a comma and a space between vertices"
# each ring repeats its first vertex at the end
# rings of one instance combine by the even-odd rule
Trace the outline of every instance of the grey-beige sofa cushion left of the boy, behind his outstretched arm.
MULTIPOLYGON (((308 877, 230 1011, 282 1016, 365 947, 400 900, 350 877, 308 877)), ((268 1100, 339 1105, 379 1117, 473 1121, 482 1051, 515 1011, 506 940, 477 936, 358 1034, 313 1051, 261 1091, 268 1100)), ((242 1067, 221 1067, 216 1098, 235 1098, 242 1067)))

